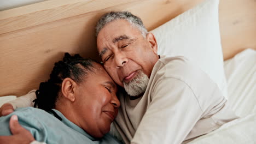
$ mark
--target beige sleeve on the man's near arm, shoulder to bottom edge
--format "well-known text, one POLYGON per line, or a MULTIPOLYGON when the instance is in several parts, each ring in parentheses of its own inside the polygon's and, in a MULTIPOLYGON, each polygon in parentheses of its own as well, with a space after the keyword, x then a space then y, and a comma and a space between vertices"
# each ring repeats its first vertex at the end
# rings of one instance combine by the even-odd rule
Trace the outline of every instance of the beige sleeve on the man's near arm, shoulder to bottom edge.
POLYGON ((202 115, 196 95, 187 83, 161 77, 150 98, 131 143, 182 143, 202 115))

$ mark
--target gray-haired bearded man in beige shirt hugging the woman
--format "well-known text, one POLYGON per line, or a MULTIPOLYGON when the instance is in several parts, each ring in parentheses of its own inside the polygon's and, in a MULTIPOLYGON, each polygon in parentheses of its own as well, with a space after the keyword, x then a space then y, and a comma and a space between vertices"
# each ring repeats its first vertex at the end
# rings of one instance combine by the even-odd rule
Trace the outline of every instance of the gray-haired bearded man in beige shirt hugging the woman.
POLYGON ((155 37, 139 17, 107 13, 96 35, 104 68, 125 89, 114 122, 125 143, 186 143, 237 118, 197 65, 158 55, 155 37))

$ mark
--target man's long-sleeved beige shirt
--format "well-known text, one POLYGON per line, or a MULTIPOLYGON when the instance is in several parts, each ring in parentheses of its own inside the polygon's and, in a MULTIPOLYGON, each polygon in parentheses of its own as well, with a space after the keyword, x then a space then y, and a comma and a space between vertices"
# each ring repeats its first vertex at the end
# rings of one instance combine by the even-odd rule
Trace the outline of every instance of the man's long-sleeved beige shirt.
POLYGON ((125 143, 182 143, 237 118, 216 83, 184 57, 161 56, 144 95, 119 99, 114 124, 125 143))

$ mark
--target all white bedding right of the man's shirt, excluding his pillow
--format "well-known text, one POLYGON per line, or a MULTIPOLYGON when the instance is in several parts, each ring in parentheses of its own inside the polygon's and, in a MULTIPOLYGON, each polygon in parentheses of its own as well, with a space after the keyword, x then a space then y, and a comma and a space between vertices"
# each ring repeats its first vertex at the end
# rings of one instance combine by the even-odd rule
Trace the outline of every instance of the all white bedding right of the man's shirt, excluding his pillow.
POLYGON ((256 51, 247 49, 224 62, 228 100, 240 119, 189 142, 256 143, 256 51))

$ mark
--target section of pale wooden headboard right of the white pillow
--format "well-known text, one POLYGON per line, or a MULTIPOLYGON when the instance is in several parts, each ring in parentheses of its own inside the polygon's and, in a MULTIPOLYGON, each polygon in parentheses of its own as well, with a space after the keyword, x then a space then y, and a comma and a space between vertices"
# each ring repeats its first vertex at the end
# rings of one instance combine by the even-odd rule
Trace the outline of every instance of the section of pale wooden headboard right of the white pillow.
POLYGON ((256 49, 256 1, 220 1, 219 26, 224 59, 247 48, 256 49))

